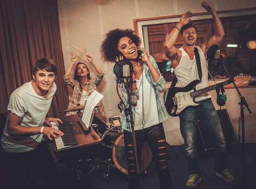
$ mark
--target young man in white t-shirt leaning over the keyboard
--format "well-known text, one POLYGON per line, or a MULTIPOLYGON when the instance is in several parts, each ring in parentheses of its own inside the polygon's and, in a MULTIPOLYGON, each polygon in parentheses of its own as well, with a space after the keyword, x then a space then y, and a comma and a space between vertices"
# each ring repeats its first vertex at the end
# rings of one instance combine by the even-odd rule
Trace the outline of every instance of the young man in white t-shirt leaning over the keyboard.
POLYGON ((11 189, 37 188, 29 182, 27 170, 38 173, 47 189, 60 186, 58 170, 48 147, 41 144, 43 135, 50 140, 64 133, 43 123, 62 123, 60 119, 46 117, 52 97, 56 92, 54 83, 57 68, 54 61, 43 57, 33 66, 33 80, 16 89, 10 96, 7 122, 1 145, 7 160, 7 174, 11 189))

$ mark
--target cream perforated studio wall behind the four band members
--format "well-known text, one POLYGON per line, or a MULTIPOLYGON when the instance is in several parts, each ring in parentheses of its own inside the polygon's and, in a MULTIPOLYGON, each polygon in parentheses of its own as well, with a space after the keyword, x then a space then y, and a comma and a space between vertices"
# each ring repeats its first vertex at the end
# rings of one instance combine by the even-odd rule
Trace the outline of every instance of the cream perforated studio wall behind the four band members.
MULTIPOLYGON (((256 7, 255 0, 209 0, 215 10, 230 10, 256 7)), ((82 51, 92 54, 94 60, 99 64, 105 73, 102 84, 98 87, 99 92, 104 95, 102 100, 106 115, 99 116, 105 123, 109 117, 120 114, 117 104, 119 97, 116 92, 116 82, 113 80, 113 63, 103 62, 100 54, 100 45, 105 34, 116 28, 134 29, 133 19, 143 17, 158 17, 166 15, 183 14, 186 11, 204 12, 201 7, 201 0, 58 0, 58 14, 61 28, 61 41, 64 54, 65 68, 71 62, 72 54, 76 49, 71 44, 80 47, 84 43, 82 51)), ((93 66, 87 62, 84 54, 78 53, 78 62, 85 62, 89 66, 91 77, 96 76, 93 66)), ((72 89, 68 88, 69 95, 72 89)), ((253 111, 249 115, 245 110, 246 143, 256 142, 256 88, 241 89, 253 111)), ((215 92, 210 92, 216 109, 215 92)), ((230 115, 236 135, 239 127, 240 106, 239 98, 235 89, 227 89, 227 103, 225 108, 230 115)), ((163 93, 162 93, 163 97, 163 93)), ((170 145, 181 145, 183 139, 180 135, 178 117, 168 117, 164 122, 166 139, 170 145)))

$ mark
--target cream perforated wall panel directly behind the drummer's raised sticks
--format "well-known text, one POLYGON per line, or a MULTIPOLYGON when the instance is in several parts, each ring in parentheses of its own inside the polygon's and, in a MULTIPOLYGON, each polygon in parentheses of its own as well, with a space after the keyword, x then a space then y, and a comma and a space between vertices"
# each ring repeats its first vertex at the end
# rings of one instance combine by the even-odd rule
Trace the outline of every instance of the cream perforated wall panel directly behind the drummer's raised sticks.
MULTIPOLYGON (((69 43, 77 48, 84 43, 81 50, 91 54, 96 63, 103 69, 104 66, 99 52, 101 34, 99 30, 100 24, 97 0, 69 2, 66 3, 66 10, 69 43)), ((77 52, 73 47, 70 47, 70 49, 71 54, 77 52)), ((90 71, 93 73, 94 68, 87 61, 86 56, 81 52, 77 55, 82 62, 87 63, 87 66, 89 66, 90 71)), ((96 72, 94 74, 96 74, 96 72)))

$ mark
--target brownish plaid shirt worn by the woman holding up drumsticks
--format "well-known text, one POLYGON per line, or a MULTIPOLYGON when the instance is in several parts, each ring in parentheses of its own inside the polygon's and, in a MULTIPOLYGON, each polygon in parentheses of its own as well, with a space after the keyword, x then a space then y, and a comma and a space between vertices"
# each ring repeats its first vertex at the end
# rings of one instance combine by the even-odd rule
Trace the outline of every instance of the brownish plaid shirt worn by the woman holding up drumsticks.
MULTIPOLYGON (((97 90, 97 86, 102 82, 102 79, 104 77, 104 73, 97 74, 95 78, 91 78, 87 83, 84 84, 84 89, 87 92, 87 94, 90 96, 94 90, 97 90)), ((80 88, 79 82, 77 80, 72 79, 71 77, 64 77, 64 81, 67 83, 68 86, 70 86, 73 89, 73 94, 70 98, 69 104, 67 109, 74 108, 77 106, 77 103, 79 103, 81 95, 82 95, 82 90, 80 88)), ((81 104, 83 106, 83 104, 81 104)), ((99 101, 97 104, 99 108, 96 108, 96 112, 101 112, 102 115, 105 115, 105 109, 103 107, 102 101, 99 101)), ((67 115, 73 115, 76 114, 76 112, 67 112, 67 115)))

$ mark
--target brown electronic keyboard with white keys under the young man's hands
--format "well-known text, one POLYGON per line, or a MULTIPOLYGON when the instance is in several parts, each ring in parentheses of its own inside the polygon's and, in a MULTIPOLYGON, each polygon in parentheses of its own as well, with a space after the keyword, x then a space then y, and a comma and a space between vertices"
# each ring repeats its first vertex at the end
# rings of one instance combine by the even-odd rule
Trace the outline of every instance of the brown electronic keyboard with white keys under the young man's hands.
POLYGON ((53 154, 58 161, 94 158, 103 154, 101 138, 94 129, 90 132, 84 131, 77 119, 80 116, 66 116, 61 119, 63 124, 53 125, 64 133, 62 137, 53 140, 53 154))

